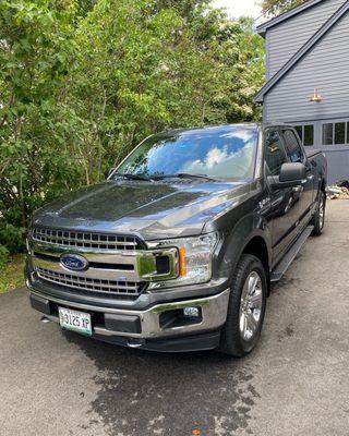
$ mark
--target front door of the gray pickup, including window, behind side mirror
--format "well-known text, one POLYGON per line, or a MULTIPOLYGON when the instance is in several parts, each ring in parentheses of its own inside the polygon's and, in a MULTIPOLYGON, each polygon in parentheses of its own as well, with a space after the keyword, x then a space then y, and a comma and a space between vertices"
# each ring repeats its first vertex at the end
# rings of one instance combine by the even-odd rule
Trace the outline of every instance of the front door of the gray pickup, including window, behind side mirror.
MULTIPOLYGON (((268 175, 279 175, 282 164, 290 158, 277 128, 269 128, 264 135, 264 173, 268 185, 268 175)), ((270 227, 274 263, 286 252, 294 237, 298 211, 296 210, 298 194, 292 187, 270 189, 270 209, 267 220, 270 227)))

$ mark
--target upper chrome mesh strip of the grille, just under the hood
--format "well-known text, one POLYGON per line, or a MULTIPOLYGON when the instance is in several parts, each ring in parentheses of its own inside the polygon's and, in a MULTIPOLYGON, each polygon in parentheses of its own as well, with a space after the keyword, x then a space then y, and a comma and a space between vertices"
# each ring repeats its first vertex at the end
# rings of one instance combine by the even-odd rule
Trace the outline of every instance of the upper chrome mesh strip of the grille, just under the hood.
POLYGON ((48 229, 35 227, 32 231, 34 241, 69 247, 100 250, 135 251, 143 245, 136 237, 108 233, 48 229))

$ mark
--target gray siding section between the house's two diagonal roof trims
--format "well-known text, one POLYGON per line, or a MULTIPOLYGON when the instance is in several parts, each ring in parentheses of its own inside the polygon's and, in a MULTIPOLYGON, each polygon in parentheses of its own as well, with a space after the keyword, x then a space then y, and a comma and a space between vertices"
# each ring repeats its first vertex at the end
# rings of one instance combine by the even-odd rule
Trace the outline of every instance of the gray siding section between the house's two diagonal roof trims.
POLYGON ((267 80, 273 77, 344 3, 345 0, 324 0, 270 27, 266 33, 267 80))

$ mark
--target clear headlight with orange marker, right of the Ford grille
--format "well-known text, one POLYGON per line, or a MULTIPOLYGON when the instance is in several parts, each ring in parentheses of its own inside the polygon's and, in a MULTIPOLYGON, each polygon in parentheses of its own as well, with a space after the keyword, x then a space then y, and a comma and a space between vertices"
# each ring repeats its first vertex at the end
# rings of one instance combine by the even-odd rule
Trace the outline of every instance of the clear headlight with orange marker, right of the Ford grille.
POLYGON ((212 256, 218 239, 218 233, 215 232, 196 238, 170 239, 157 242, 156 247, 159 250, 161 247, 176 247, 178 250, 178 277, 166 281, 153 282, 149 289, 208 281, 212 276, 212 256))

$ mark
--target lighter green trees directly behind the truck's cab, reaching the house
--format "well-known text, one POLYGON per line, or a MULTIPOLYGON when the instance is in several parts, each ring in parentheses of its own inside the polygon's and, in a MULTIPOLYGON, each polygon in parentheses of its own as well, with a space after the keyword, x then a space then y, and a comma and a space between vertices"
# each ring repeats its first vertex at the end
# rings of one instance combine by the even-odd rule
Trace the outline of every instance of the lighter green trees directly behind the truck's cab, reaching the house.
POLYGON ((80 26, 70 98, 91 126, 76 150, 88 183, 152 132, 260 114, 263 41, 252 23, 165 3, 99 1, 80 26))

